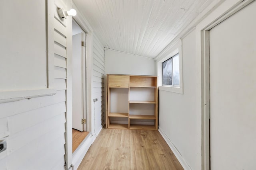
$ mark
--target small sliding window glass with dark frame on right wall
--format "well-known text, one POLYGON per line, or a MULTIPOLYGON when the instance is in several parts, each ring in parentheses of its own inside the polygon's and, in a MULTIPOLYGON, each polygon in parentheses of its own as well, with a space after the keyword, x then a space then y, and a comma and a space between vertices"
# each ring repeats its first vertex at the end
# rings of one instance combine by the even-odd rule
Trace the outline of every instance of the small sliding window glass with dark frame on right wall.
POLYGON ((163 86, 180 86, 179 53, 162 63, 163 86))

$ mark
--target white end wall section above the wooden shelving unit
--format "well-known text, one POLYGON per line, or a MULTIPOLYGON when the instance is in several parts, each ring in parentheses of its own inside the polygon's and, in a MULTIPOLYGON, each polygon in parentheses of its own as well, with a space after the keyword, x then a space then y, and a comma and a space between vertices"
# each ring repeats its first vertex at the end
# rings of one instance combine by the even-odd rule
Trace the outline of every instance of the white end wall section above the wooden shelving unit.
POLYGON ((105 49, 105 75, 155 75, 154 60, 105 49))

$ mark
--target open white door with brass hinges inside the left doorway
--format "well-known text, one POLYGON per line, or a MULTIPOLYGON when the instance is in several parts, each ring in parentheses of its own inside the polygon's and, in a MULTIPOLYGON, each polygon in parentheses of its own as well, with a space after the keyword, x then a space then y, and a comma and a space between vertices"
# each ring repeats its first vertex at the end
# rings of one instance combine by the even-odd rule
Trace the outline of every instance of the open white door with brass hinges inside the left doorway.
POLYGON ((82 46, 85 38, 84 33, 72 36, 72 127, 79 131, 86 131, 86 124, 82 124, 82 119, 86 119, 86 49, 82 46))

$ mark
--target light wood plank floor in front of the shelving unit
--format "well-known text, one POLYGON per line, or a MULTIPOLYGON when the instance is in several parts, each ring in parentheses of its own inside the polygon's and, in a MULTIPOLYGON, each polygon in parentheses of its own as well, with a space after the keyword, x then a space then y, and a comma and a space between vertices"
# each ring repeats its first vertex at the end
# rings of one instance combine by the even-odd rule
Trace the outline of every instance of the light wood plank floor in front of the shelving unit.
POLYGON ((183 170, 158 131, 102 129, 78 170, 183 170))

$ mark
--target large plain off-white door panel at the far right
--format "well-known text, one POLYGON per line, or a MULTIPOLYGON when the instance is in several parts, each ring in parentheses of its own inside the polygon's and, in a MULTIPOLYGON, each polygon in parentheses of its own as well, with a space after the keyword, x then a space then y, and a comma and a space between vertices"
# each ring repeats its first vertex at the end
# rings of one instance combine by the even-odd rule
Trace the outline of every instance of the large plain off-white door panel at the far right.
POLYGON ((210 30, 211 170, 256 167, 256 1, 210 30))

